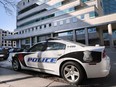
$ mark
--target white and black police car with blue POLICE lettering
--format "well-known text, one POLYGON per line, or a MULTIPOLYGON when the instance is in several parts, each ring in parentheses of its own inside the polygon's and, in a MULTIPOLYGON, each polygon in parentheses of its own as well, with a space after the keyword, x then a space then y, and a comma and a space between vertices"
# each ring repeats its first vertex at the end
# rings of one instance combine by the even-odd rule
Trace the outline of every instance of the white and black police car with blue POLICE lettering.
POLYGON ((85 77, 107 76, 110 59, 104 46, 85 46, 51 38, 34 45, 28 52, 15 53, 12 67, 16 71, 31 69, 62 76, 71 84, 79 84, 85 77))

